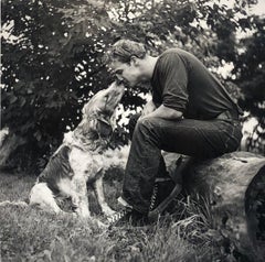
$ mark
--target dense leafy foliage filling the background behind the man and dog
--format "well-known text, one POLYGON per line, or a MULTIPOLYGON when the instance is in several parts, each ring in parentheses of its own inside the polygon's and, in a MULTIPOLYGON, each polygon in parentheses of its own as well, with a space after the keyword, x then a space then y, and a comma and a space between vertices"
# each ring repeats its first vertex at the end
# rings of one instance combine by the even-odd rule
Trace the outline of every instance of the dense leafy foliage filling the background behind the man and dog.
MULTIPOLYGON (((120 37, 146 43, 153 55, 179 46, 191 51, 213 70, 232 62, 240 72, 243 56, 239 54, 235 33, 252 29, 253 18, 245 10, 254 3, 4 0, 2 124, 25 137, 26 151, 38 152, 36 157, 53 151, 63 132, 80 122, 84 102, 112 81, 105 53, 120 37)), ((262 26, 254 24, 259 34, 262 26)), ((235 78, 241 79, 243 88, 251 79, 239 74, 235 78)), ((257 96, 259 91, 257 88, 257 96)), ((145 103, 140 92, 147 92, 145 87, 126 92, 125 110, 139 110, 145 103)), ((254 100, 250 100, 250 107, 254 100)), ((119 127, 116 139, 128 139, 126 127, 119 127)))

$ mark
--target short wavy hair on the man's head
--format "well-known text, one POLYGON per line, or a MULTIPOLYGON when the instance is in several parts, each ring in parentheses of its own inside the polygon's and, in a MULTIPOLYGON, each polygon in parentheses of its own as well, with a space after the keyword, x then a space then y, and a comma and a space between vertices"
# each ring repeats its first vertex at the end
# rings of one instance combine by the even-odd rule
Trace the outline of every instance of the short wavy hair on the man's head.
POLYGON ((144 44, 131 40, 119 40, 110 48, 110 61, 117 59, 121 63, 129 63, 131 56, 144 58, 147 54, 144 44))

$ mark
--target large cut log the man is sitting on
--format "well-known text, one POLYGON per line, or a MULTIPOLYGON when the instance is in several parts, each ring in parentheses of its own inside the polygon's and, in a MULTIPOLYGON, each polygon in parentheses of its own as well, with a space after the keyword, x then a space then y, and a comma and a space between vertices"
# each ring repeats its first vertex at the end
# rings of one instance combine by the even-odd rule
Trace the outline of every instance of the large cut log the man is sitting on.
POLYGON ((214 228, 230 247, 241 254, 254 253, 253 261, 265 261, 265 157, 234 152, 190 161, 182 174, 191 197, 199 194, 210 204, 214 228))

